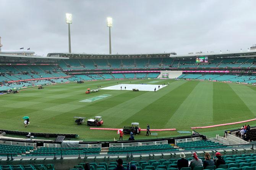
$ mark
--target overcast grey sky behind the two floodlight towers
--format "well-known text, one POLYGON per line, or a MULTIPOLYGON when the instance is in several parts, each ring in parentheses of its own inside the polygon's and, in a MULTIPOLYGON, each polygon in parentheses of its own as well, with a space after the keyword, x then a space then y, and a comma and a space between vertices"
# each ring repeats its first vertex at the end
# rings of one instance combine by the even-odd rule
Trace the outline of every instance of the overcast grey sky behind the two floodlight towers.
POLYGON ((247 50, 256 43, 255 0, 0 0, 2 51, 112 54, 247 50))

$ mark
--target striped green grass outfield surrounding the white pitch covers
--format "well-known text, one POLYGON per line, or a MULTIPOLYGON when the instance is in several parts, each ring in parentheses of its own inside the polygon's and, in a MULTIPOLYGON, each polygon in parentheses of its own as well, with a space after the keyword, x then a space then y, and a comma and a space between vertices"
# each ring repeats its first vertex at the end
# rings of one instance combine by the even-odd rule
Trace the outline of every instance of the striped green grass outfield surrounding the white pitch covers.
MULTIPOLYGON (((113 140, 119 138, 116 131, 90 130, 86 124, 76 125, 73 116, 94 118, 102 116, 105 128, 122 128, 131 122, 139 122, 142 129, 147 123, 151 129, 209 126, 252 119, 256 115, 256 87, 241 84, 186 80, 110 80, 91 81, 84 84, 61 84, 21 91, 19 94, 0 95, 0 129, 27 132, 76 133, 79 140, 113 140), (86 89, 123 84, 168 84, 155 92, 101 90, 85 94, 86 89), (112 96, 91 103, 79 102, 94 96, 112 96), (23 116, 29 116, 31 126, 24 128, 23 116)), ((246 123, 248 124, 248 123, 246 123)), ((256 121, 249 122, 255 125, 256 121)), ((224 130, 241 127, 242 124, 198 129, 198 132, 214 137, 224 130)), ((141 132, 135 139, 146 139, 141 132)), ((178 135, 177 132, 158 132, 159 137, 178 135)), ((128 139, 125 135, 124 139, 128 139)))

